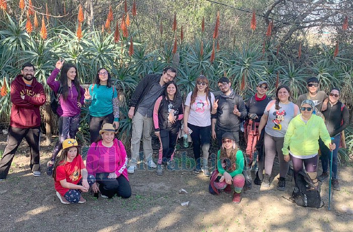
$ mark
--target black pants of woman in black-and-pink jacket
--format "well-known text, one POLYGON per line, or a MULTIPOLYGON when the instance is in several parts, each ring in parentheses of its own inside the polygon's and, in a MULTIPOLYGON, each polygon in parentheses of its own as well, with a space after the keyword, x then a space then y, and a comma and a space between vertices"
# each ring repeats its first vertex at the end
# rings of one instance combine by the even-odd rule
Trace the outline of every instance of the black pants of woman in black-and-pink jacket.
POLYGON ((171 127, 166 130, 160 130, 160 141, 162 143, 163 154, 161 163, 170 161, 171 154, 173 154, 175 149, 175 144, 177 144, 179 130, 180 127, 171 127))

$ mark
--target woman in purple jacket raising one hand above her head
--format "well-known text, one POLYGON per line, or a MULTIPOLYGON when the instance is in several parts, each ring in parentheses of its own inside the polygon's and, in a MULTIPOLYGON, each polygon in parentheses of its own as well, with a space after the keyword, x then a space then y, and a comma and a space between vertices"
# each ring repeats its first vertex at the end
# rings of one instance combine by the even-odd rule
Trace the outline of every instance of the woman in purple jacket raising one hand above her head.
POLYGON ((77 77, 77 68, 72 64, 64 64, 64 60, 58 60, 55 69, 46 80, 48 86, 55 92, 58 99, 57 115, 59 136, 54 146, 51 159, 47 163, 46 174, 52 175, 56 155, 63 148, 63 142, 68 137, 75 139, 80 125, 81 106, 84 103, 85 91, 80 86, 77 77), (61 71, 60 81, 55 81, 61 71))

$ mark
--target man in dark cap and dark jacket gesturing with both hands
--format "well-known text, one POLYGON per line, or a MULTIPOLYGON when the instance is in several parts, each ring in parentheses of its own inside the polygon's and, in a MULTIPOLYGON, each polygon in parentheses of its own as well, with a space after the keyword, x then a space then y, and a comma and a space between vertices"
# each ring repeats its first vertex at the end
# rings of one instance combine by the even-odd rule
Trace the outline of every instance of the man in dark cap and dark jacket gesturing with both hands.
POLYGON ((241 119, 246 118, 247 109, 243 98, 231 88, 228 78, 220 78, 218 87, 221 94, 213 104, 213 108, 217 109, 217 112, 211 115, 211 132, 212 138, 217 139, 217 144, 221 147, 222 135, 225 132, 232 133, 234 141, 239 143, 240 122, 241 119))

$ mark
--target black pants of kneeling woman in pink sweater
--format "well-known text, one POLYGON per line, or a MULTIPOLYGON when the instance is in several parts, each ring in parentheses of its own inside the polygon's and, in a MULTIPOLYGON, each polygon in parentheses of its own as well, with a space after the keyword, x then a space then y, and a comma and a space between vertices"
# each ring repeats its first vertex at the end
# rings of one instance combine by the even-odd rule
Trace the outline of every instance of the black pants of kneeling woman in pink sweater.
POLYGON ((129 198, 131 196, 131 187, 129 181, 120 175, 115 179, 108 179, 109 173, 96 173, 96 182, 99 184, 99 191, 101 194, 112 198, 115 194, 122 198, 129 198))

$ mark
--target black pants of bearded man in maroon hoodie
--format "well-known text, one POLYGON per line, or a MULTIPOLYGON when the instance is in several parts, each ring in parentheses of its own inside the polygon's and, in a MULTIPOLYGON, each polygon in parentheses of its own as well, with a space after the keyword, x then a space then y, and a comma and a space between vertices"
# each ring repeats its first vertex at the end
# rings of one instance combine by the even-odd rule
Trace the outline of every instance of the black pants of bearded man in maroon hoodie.
POLYGON ((12 160, 14 159, 17 148, 20 146, 23 138, 26 139, 30 147, 31 161, 29 167, 32 171, 40 170, 40 127, 16 128, 10 126, 8 135, 8 145, 5 148, 3 158, 0 160, 0 179, 5 179, 8 176, 12 160))

